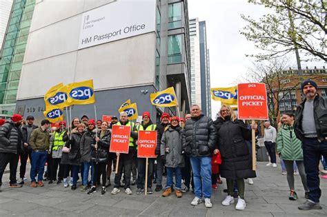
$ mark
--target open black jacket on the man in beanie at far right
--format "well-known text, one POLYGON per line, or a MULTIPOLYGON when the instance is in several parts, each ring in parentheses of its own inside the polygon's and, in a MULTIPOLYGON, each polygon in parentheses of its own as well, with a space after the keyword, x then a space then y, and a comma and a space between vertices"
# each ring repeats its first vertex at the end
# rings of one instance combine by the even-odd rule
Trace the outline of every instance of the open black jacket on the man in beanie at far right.
MULTIPOLYGON (((294 122, 295 134, 301 141, 304 141, 305 138, 302 130, 304 103, 306 103, 306 99, 297 106, 294 122)), ((319 94, 317 94, 313 101, 313 115, 315 116, 318 139, 320 141, 327 141, 327 99, 322 98, 319 94)))

